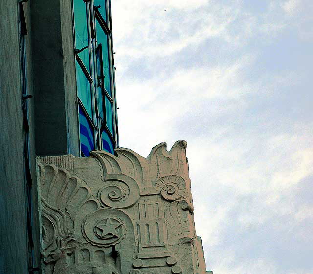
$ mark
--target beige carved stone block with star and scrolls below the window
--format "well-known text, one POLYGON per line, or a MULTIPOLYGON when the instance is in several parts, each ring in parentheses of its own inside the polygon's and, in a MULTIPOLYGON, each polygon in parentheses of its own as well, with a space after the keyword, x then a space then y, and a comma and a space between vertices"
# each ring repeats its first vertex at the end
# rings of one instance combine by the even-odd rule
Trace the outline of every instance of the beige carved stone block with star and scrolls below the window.
POLYGON ((38 157, 46 274, 206 274, 186 142, 38 157))

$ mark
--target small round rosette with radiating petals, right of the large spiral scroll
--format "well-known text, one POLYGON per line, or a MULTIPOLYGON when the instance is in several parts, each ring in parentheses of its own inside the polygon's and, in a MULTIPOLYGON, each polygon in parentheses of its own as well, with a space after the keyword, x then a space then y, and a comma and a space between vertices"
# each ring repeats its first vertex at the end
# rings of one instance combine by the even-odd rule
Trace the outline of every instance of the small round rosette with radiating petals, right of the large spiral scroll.
POLYGON ((175 201, 184 196, 186 192, 185 180, 177 175, 168 175, 158 179, 155 188, 161 192, 162 197, 168 201, 175 201))

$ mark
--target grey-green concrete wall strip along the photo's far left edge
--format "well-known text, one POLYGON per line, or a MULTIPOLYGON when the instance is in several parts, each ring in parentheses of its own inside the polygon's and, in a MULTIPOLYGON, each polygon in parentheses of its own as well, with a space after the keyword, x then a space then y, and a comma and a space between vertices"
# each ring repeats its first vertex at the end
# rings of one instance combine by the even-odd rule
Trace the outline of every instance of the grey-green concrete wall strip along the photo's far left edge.
POLYGON ((0 14, 0 273, 26 274, 27 233, 17 1, 0 1, 0 14))

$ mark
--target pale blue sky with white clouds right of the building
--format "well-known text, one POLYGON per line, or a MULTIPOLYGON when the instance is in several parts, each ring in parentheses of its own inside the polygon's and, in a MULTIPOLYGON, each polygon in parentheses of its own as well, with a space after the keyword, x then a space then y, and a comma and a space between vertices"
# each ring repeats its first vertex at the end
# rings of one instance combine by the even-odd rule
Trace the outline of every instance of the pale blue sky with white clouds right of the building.
POLYGON ((312 0, 112 0, 120 146, 187 141, 214 274, 313 274, 312 26, 312 0))

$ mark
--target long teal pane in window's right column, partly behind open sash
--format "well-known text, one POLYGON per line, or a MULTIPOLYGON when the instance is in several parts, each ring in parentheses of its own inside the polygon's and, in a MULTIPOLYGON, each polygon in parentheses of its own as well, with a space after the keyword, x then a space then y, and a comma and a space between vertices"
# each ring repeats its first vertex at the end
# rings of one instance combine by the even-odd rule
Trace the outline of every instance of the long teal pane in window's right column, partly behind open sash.
POLYGON ((104 75, 104 88, 108 94, 112 97, 111 93, 111 77, 110 77, 110 62, 109 62, 109 47, 108 47, 108 35, 106 35, 98 21, 96 20, 96 32, 97 32, 97 45, 102 45, 102 65, 104 75))

